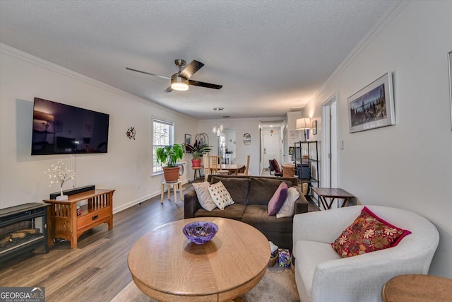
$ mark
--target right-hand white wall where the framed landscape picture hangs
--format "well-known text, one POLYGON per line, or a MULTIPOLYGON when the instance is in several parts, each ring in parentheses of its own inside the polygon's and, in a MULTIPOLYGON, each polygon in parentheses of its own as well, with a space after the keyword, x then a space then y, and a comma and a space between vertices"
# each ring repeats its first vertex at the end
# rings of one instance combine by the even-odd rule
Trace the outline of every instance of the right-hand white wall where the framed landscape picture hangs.
POLYGON ((344 141, 344 149, 338 150, 339 186, 362 204, 408 209, 432 221, 440 242, 430 273, 448 278, 452 278, 447 67, 451 11, 452 1, 410 1, 347 58, 306 108, 320 122, 321 104, 338 91, 338 141, 344 141), (350 134, 347 98, 386 71, 393 73, 396 125, 350 134))

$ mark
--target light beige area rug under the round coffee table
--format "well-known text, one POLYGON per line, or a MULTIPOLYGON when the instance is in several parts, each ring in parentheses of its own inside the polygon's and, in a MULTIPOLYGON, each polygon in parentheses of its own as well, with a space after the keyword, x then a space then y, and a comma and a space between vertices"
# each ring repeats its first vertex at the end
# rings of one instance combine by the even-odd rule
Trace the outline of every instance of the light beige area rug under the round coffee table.
MULTIPOLYGON (((126 286, 112 300, 113 302, 149 302, 149 298, 136 287, 135 283, 126 286)), ((269 267, 261 281, 246 294, 234 298, 234 302, 299 301, 295 276, 291 269, 269 267)))

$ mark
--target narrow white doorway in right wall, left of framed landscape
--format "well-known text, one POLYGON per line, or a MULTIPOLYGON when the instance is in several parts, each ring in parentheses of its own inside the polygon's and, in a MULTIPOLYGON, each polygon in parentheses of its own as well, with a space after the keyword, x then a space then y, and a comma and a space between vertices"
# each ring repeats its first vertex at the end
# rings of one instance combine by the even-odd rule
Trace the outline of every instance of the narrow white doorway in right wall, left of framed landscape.
POLYGON ((323 144, 322 161, 323 180, 322 187, 338 187, 338 93, 328 98, 322 105, 323 144))

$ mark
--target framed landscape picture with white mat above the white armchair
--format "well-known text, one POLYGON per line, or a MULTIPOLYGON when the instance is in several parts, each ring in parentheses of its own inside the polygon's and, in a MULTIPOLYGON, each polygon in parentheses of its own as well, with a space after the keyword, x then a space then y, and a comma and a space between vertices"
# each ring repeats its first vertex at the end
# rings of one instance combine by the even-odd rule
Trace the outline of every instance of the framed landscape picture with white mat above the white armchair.
POLYGON ((396 124, 390 72, 347 98, 350 133, 396 124))

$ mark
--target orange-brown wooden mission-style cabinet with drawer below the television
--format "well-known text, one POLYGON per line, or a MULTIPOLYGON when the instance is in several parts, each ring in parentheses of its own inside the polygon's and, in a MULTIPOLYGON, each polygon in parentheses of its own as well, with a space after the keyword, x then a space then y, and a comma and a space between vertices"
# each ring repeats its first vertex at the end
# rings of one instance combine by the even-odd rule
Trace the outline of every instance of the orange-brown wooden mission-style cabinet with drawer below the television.
POLYGON ((71 242, 71 248, 77 248, 78 238, 90 228, 107 223, 113 228, 114 190, 91 190, 73 194, 68 200, 44 199, 49 207, 49 244, 55 238, 64 238, 71 242), (81 214, 77 215, 77 203, 83 204, 81 214))

